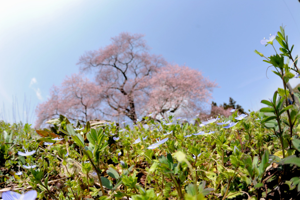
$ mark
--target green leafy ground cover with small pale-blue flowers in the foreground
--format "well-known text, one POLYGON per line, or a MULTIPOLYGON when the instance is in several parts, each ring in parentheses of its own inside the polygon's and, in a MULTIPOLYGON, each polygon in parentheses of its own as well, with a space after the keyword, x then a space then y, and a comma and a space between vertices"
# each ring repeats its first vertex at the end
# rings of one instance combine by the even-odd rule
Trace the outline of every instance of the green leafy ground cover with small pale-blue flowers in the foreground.
POLYGON ((277 35, 261 43, 276 39, 281 54, 256 53, 274 66, 283 88, 262 100, 260 112, 233 110, 195 124, 170 112, 161 120, 149 114, 133 126, 72 124, 60 115, 44 130, 1 121, 2 198, 297 199, 300 88, 290 94, 286 84, 299 70, 282 27, 277 35))

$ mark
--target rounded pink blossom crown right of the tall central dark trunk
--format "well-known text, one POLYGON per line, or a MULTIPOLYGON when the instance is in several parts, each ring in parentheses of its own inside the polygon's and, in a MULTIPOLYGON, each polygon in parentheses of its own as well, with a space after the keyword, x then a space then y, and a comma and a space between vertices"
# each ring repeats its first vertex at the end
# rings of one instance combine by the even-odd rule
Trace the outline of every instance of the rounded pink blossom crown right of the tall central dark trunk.
POLYGON ((164 116, 168 110, 180 110, 185 117, 193 117, 203 111, 203 104, 211 99, 211 92, 216 83, 202 76, 200 71, 167 64, 148 82, 144 82, 143 91, 147 101, 146 112, 164 116))

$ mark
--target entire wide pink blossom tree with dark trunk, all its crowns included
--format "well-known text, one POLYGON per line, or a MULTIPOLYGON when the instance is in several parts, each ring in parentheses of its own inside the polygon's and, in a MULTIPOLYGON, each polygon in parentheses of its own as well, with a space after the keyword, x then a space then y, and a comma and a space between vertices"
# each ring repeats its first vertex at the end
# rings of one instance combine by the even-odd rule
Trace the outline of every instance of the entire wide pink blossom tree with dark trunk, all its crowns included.
POLYGON ((57 114, 82 121, 102 114, 106 119, 129 117, 133 122, 168 110, 194 116, 211 98, 216 83, 200 71, 149 54, 143 35, 121 33, 111 40, 110 45, 79 59, 81 74, 92 73, 94 82, 75 83, 80 79, 77 75, 65 80, 61 88, 54 87, 48 101, 37 109, 39 122, 57 114))

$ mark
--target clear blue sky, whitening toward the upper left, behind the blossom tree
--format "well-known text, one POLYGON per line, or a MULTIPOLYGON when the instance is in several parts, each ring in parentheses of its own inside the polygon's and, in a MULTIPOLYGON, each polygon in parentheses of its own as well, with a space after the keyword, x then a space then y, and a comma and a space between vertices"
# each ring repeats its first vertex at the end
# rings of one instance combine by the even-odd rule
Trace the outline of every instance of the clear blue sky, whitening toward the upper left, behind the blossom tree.
MULTIPOLYGON (((274 54, 259 41, 283 24, 293 55, 300 54, 299 10, 297 0, 1 1, 0 120, 13 120, 17 99, 16 120, 26 122, 53 85, 79 71, 76 63, 85 51, 110 44, 124 31, 145 34, 151 53, 216 80, 217 104, 232 97, 244 109, 257 110, 282 84, 271 69, 266 77, 268 64, 253 51, 274 54), (27 114, 24 94, 31 104, 27 114)), ((298 83, 291 80, 292 86, 298 83)), ((34 115, 28 120, 33 123, 34 115)))

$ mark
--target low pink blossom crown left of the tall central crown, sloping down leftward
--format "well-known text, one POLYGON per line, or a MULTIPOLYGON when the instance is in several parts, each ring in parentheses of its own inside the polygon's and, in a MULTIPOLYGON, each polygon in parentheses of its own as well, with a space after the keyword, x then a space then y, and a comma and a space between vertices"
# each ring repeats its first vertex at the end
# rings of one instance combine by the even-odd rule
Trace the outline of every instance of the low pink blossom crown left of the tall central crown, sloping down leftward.
POLYGON ((35 126, 60 114, 83 123, 95 119, 101 112, 101 93, 101 88, 87 78, 78 74, 66 77, 61 87, 53 86, 48 100, 38 105, 35 126))

